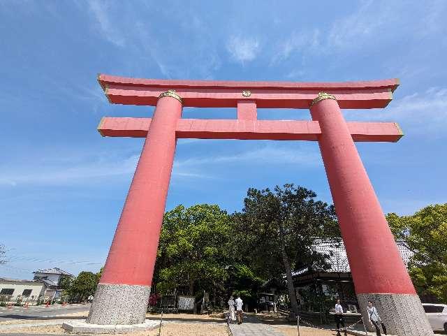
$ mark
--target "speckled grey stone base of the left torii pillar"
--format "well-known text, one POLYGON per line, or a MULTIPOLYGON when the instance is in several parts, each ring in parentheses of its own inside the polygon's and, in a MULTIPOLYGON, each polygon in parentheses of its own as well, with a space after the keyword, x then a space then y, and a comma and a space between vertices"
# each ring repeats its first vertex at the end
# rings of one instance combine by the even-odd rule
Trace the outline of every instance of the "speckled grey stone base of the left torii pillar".
POLYGON ((98 284, 87 323, 144 323, 150 293, 150 286, 98 284))

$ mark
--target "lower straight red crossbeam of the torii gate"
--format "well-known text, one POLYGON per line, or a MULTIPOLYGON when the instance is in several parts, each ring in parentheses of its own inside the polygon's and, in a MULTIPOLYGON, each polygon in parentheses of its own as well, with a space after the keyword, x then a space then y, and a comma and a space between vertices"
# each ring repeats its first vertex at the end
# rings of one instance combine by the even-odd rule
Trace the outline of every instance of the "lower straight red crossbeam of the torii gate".
MULTIPOLYGON (((145 138, 150 118, 103 117, 101 136, 145 138)), ((354 141, 395 143, 403 133, 395 122, 347 122, 354 141)), ((196 139, 318 140, 318 122, 301 120, 179 119, 175 136, 196 139)))

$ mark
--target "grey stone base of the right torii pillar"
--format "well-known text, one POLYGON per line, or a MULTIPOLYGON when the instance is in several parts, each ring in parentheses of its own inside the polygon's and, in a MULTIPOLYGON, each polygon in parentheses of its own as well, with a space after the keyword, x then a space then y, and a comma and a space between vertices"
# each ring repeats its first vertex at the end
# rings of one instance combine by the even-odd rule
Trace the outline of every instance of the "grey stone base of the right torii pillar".
POLYGON ((418 295, 411 294, 358 294, 358 304, 367 330, 376 328, 369 323, 367 313, 368 300, 374 303, 388 335, 428 336, 434 335, 425 316, 418 295))

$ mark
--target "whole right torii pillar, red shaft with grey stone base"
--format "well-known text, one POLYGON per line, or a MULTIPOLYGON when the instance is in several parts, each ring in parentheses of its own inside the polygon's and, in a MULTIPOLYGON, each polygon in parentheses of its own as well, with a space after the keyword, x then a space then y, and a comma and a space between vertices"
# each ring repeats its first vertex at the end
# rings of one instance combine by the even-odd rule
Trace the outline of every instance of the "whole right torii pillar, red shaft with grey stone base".
POLYGON ((321 93, 310 111, 366 325, 372 300, 389 334, 433 335, 335 97, 321 93))

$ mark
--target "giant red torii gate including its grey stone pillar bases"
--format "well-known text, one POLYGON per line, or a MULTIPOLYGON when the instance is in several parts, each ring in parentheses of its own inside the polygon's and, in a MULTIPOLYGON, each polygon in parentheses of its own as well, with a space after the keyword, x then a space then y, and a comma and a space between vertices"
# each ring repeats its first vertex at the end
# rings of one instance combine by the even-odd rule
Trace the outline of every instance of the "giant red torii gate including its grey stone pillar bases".
POLYGON ((354 141, 397 142, 393 122, 346 122, 340 108, 385 108, 398 80, 223 82, 98 75, 110 103, 155 105, 150 118, 103 117, 102 136, 146 138, 87 322, 145 320, 177 138, 318 141, 362 314, 374 300, 395 335, 432 335, 354 141), (325 93, 330 92, 330 93, 325 93), (182 107, 237 119, 182 119, 182 107), (257 108, 310 108, 312 121, 258 120, 257 108))

